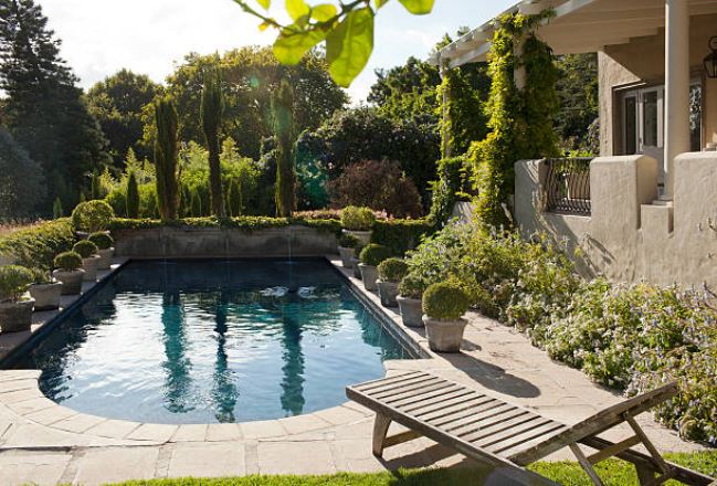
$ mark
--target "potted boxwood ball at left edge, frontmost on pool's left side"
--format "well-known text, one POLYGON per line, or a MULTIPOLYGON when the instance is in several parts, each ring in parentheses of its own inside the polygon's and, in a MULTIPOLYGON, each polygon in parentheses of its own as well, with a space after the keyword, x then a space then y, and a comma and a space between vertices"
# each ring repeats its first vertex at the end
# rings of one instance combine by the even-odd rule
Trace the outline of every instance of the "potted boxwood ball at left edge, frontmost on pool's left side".
POLYGON ((24 297, 32 284, 32 272, 24 266, 0 266, 0 330, 20 332, 30 330, 35 300, 24 297))

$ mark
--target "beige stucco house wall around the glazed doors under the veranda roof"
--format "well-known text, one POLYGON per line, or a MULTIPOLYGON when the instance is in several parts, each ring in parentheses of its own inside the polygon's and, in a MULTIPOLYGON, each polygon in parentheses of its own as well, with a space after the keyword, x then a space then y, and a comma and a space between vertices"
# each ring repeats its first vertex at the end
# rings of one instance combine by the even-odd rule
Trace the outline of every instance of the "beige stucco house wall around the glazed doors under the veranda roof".
MULTIPOLYGON (((717 81, 705 80, 703 59, 707 42, 717 35, 717 14, 692 17, 689 65, 693 77, 703 78, 703 140, 717 141, 717 81)), ((665 32, 635 38, 629 44, 608 45, 598 53, 600 72, 600 155, 621 152, 620 113, 615 88, 637 83, 662 84, 665 77, 665 32), (618 129, 616 129, 618 128, 618 129)), ((704 144, 703 144, 704 145, 704 144)))

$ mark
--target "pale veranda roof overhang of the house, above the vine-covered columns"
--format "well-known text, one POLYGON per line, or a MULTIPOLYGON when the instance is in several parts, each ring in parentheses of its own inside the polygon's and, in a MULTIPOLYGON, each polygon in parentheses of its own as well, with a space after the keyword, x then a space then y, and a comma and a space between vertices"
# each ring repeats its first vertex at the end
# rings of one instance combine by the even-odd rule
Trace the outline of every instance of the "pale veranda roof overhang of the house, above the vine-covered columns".
MULTIPOLYGON (((556 14, 544 21, 538 35, 556 54, 626 44, 665 27, 665 0, 523 0, 503 13, 535 14, 545 9, 556 14)), ((708 13, 717 13, 717 0, 689 0, 690 15, 708 13)), ((447 61, 449 67, 485 61, 498 17, 441 49, 430 61, 436 65, 447 61)))

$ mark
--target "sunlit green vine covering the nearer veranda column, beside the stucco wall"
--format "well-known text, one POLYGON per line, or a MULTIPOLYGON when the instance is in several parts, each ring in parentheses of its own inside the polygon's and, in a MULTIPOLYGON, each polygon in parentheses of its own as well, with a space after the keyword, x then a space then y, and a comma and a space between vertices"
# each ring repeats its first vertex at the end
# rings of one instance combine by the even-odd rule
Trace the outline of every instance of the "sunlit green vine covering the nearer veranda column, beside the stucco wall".
POLYGON ((552 116, 558 107, 557 70, 550 47, 533 31, 552 11, 537 15, 505 14, 493 36, 488 72, 488 136, 468 151, 476 190, 476 215, 486 225, 506 225, 504 204, 515 184, 514 163, 558 154, 552 116), (523 46, 516 55, 516 46, 523 46), (515 70, 525 67, 526 87, 516 88, 515 70))

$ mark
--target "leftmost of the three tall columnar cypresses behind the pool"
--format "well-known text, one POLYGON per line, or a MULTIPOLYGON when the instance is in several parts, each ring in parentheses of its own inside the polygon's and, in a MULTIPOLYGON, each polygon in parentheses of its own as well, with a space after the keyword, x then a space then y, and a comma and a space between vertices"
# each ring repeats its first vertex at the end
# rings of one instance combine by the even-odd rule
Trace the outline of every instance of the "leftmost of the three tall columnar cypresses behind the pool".
POLYGON ((177 147, 177 109, 168 98, 155 104, 157 141, 155 170, 157 172, 157 203, 162 220, 177 219, 179 209, 179 163, 177 147))

